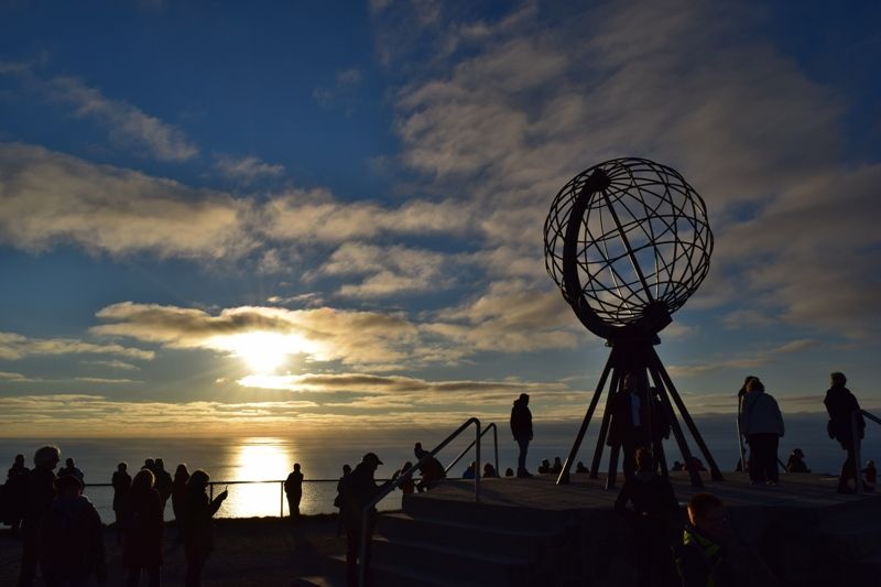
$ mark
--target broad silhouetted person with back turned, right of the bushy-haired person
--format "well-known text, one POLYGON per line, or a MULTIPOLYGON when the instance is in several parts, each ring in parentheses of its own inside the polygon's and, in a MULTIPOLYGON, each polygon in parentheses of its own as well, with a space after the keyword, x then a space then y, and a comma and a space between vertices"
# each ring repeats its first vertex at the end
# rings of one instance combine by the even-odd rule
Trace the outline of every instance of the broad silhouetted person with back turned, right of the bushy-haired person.
POLYGON ((83 496, 83 481, 64 475, 55 481, 57 496, 40 521, 40 568, 48 587, 88 585, 95 575, 107 583, 104 528, 95 506, 83 496))

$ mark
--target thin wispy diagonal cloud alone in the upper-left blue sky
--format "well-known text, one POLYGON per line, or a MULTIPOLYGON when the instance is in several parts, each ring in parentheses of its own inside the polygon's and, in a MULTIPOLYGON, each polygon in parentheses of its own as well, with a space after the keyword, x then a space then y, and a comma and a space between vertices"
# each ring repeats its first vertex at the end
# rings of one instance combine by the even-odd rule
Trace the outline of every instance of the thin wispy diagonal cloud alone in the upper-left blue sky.
POLYGON ((43 85, 52 99, 72 105, 76 117, 105 127, 117 144, 139 153, 146 151, 161 161, 187 161, 198 154, 175 127, 124 101, 109 99, 76 77, 58 76, 43 85))

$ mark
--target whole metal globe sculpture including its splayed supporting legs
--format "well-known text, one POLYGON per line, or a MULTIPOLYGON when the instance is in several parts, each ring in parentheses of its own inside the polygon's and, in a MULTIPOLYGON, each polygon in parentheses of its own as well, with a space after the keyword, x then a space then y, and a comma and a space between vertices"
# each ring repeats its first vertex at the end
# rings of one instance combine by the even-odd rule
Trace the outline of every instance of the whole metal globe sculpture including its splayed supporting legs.
MULTIPOLYGON (((569 468, 610 379, 590 476, 597 478, 609 432, 612 398, 624 377, 660 405, 679 446, 692 483, 700 486, 673 405, 721 479, 694 420, 654 350, 657 333, 697 291, 709 271, 713 232, 704 200, 675 170, 645 159, 614 159, 573 177, 551 205, 544 225, 545 267, 578 319, 611 347, 609 359, 557 482, 569 468)), ((651 430, 651 425, 649 426, 651 430)), ((650 433, 651 434, 651 433, 650 433)), ((666 472, 663 444, 651 437, 666 472)), ((612 445, 607 487, 614 487, 620 445, 612 445)))

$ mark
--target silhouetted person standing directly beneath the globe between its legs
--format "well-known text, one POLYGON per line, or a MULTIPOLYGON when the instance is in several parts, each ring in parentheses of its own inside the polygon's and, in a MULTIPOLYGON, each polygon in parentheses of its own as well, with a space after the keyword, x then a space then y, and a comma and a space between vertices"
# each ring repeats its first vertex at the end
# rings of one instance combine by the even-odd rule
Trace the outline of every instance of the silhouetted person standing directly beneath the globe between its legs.
POLYGON ((648 390, 638 389, 635 377, 628 373, 621 390, 610 401, 611 422, 606 444, 611 447, 621 446, 624 479, 632 477, 637 470, 637 448, 657 446, 661 438, 670 436, 670 421, 654 390, 651 393, 651 403, 649 395, 648 390))

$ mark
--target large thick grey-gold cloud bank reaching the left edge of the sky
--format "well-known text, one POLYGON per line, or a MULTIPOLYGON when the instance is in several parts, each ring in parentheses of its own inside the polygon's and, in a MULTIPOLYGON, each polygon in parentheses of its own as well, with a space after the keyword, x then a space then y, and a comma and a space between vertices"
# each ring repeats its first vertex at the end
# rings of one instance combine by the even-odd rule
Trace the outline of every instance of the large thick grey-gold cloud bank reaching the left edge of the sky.
POLYGON ((249 203, 21 143, 0 143, 0 242, 43 252, 240 257, 249 203))

